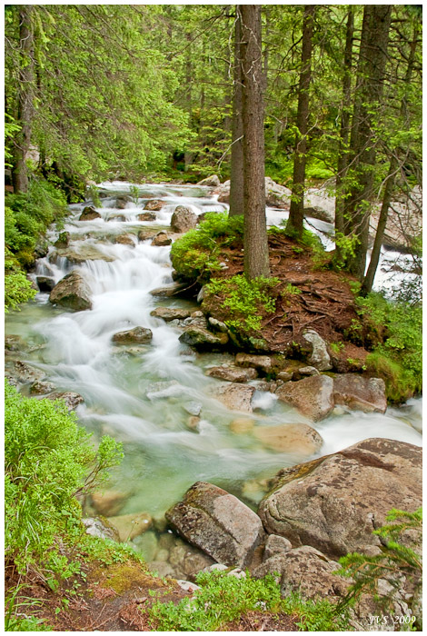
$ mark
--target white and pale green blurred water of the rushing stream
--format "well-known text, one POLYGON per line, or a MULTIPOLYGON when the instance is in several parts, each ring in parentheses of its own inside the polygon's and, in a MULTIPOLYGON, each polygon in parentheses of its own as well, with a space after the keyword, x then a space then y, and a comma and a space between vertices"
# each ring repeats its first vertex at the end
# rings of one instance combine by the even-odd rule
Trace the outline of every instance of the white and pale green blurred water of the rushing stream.
MULTIPOLYGON (((230 424, 236 419, 253 421, 255 427, 306 422, 271 393, 257 391, 253 413, 232 412, 210 394, 220 381, 207 377, 207 367, 232 360, 221 353, 194 353, 179 343, 176 326, 154 318, 154 307, 188 307, 196 303, 176 298, 154 297, 150 291, 172 283, 170 246, 154 247, 150 240, 138 242, 137 231, 159 230, 170 224, 176 205, 196 214, 227 208, 207 188, 189 185, 144 184, 134 203, 124 210, 114 207, 117 194, 129 194, 123 182, 101 184, 105 198, 97 211, 102 218, 78 221, 84 204, 70 206, 65 231, 70 247, 90 254, 94 260, 73 264, 53 258, 55 248, 36 264, 35 275, 59 281, 72 269, 82 271, 93 293, 92 311, 70 312, 55 307, 47 293, 37 293, 21 312, 9 313, 6 334, 21 336, 29 346, 25 362, 41 369, 58 390, 84 397, 77 408, 79 421, 97 441, 111 434, 123 442, 124 462, 112 473, 111 487, 124 492, 121 514, 149 512, 162 518, 194 482, 214 482, 255 506, 263 495, 263 480, 283 466, 310 459, 309 456, 273 452, 253 434, 236 434, 230 424), (166 204, 154 222, 141 222, 148 198, 166 204), (130 234, 134 244, 113 243, 114 236, 130 234), (53 263, 52 261, 55 261, 53 263), (112 336, 141 325, 153 332, 153 341, 143 346, 116 346, 112 336), (190 418, 199 415, 196 430, 190 418)), ((267 210, 269 224, 278 224, 285 213, 267 210)), ((313 222, 324 230, 322 222, 313 222)), ((50 234, 55 241, 57 232, 50 234)), ((323 239, 326 240, 327 239, 323 239)), ((23 359, 21 357, 21 359, 23 359)), ((25 387, 23 389, 25 391, 25 387)), ((315 428, 323 436, 321 454, 335 452, 368 437, 386 437, 421 445, 421 400, 382 415, 334 412, 315 428)))

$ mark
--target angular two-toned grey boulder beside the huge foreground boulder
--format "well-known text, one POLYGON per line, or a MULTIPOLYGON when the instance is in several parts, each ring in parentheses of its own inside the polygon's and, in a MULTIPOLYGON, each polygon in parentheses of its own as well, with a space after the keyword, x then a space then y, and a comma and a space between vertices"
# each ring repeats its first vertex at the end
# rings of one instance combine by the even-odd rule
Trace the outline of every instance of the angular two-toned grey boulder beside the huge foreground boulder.
POLYGON ((263 540, 258 515, 212 483, 194 483, 165 516, 186 541, 225 565, 245 567, 263 540))

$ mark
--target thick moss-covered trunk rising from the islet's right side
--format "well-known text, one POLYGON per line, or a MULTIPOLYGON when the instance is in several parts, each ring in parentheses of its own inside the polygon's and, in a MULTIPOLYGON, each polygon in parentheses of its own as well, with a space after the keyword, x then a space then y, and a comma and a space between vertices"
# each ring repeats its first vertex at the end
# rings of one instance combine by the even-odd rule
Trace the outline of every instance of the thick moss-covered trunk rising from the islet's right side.
POLYGON ((357 74, 359 88, 354 104, 351 141, 353 154, 351 173, 355 185, 352 187, 348 204, 344 206, 344 216, 349 222, 347 234, 353 234, 356 238, 354 255, 348 258, 347 269, 357 275, 361 281, 366 265, 373 196, 376 155, 374 120, 379 116, 382 104, 391 16, 392 5, 364 6, 357 74))

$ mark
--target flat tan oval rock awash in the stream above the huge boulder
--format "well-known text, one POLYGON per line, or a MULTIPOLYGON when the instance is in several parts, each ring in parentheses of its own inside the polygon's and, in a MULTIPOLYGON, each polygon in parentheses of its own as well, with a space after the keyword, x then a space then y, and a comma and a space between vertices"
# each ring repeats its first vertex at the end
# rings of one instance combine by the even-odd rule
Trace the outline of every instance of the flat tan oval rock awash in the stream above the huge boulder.
POLYGON ((257 426, 253 434, 266 448, 276 452, 295 452, 306 457, 320 451, 323 445, 321 435, 307 424, 257 426))

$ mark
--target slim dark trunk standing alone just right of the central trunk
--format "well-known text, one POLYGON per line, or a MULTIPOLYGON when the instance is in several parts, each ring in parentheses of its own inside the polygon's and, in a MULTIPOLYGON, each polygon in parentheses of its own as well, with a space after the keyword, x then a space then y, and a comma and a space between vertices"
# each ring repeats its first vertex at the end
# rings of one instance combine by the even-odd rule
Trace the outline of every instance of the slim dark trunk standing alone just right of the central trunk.
POLYGON ((294 237, 303 235, 304 220, 304 185, 305 163, 307 153, 307 132, 309 117, 309 89, 312 76, 312 41, 313 18, 315 5, 305 5, 303 18, 303 51, 300 84, 298 89, 298 111, 296 126, 298 132, 295 138, 293 154, 293 186, 289 219, 286 224, 286 234, 294 237))

